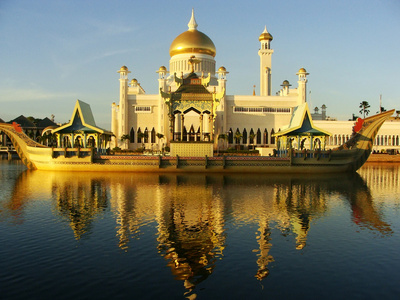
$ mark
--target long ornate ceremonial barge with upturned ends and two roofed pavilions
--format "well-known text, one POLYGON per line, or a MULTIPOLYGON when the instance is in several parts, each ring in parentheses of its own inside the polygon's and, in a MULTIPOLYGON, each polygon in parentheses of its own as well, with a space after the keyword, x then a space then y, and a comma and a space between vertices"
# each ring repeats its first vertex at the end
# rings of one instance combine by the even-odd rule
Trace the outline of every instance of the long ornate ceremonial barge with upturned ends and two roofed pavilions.
MULTIPOLYGON (((355 172, 368 159, 373 140, 394 110, 358 119, 353 136, 342 146, 325 149, 328 132, 313 125, 307 103, 296 107, 287 128, 276 133, 277 149, 272 156, 108 155, 105 151, 112 133, 98 128, 90 106, 77 101, 71 121, 53 129, 57 147, 47 147, 30 139, 19 124, 0 123, 22 162, 29 169, 93 172, 170 172, 170 173, 338 173, 355 172), (68 147, 75 141, 78 147, 68 147), (304 142, 309 146, 304 147, 304 142), (63 147, 61 147, 63 146, 63 147)), ((186 143, 194 147, 195 143, 186 143)), ((204 142, 203 142, 204 144, 204 142)), ((184 145, 184 144, 180 144, 184 145)), ((198 144, 200 145, 200 144, 198 144)), ((205 143, 207 148, 207 143, 205 143)), ((212 149, 213 142, 209 147, 212 149)), ((183 149, 183 148, 182 148, 183 149)))

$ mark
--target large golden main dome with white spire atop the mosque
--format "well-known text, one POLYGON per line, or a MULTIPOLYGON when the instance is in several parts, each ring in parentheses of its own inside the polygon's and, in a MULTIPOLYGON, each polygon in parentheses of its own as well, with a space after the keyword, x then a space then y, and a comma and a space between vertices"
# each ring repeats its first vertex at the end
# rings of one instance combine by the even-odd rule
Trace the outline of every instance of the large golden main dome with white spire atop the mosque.
POLYGON ((182 53, 201 53, 215 57, 217 50, 213 41, 201 31, 198 31, 194 12, 188 24, 189 30, 178 35, 169 47, 169 55, 172 57, 182 53))

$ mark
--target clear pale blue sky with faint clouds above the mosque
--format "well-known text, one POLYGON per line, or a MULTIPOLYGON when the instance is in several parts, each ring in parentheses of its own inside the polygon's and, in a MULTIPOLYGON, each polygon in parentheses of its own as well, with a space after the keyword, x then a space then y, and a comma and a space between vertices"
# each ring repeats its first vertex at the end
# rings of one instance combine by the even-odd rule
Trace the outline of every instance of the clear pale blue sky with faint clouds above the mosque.
MULTIPOLYGON (((347 120, 359 103, 371 113, 400 109, 400 1, 56 1, 0 0, 0 118, 55 115, 67 122, 76 99, 89 103, 99 126, 110 128, 119 74, 128 66, 147 93, 156 70, 169 65, 169 46, 198 30, 229 71, 228 94, 259 85, 258 36, 273 35, 272 92, 296 72, 310 73, 310 106, 347 120)), ((258 91, 258 88, 256 89, 258 91)))

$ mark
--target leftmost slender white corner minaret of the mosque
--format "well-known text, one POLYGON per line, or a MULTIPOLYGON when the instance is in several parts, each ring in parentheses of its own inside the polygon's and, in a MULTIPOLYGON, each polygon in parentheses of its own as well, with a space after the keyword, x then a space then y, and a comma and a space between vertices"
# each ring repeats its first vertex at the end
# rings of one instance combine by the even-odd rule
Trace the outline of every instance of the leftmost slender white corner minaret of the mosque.
POLYGON ((119 78, 119 132, 117 138, 121 138, 124 134, 129 134, 128 129, 128 67, 122 66, 117 73, 120 74, 119 78))

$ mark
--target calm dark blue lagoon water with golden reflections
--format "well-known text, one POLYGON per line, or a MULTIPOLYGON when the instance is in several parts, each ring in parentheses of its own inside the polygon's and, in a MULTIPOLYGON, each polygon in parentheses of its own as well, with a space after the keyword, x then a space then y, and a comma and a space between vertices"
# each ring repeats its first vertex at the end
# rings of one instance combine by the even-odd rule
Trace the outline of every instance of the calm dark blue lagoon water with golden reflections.
POLYGON ((397 299, 400 166, 334 176, 0 161, 1 299, 397 299))

